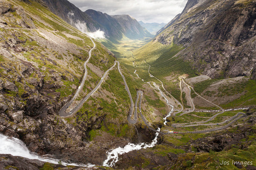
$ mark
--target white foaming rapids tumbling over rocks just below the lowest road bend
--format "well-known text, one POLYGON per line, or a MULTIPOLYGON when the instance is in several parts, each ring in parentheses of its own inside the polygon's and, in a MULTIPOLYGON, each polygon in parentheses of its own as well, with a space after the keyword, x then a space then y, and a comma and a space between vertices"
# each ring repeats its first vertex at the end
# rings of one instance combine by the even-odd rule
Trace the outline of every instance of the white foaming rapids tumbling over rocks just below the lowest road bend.
MULTIPOLYGON (((160 128, 158 128, 157 131, 160 131, 160 128)), ((124 154, 128 153, 130 151, 134 150, 141 150, 142 148, 149 148, 149 147, 154 147, 157 143, 157 136, 159 133, 156 133, 156 136, 154 140, 152 140, 151 143, 146 144, 146 143, 139 143, 138 145, 135 145, 134 143, 128 143, 125 147, 121 148, 115 148, 114 150, 111 150, 110 152, 107 151, 107 159, 104 161, 103 166, 105 167, 112 167, 115 165, 115 163, 118 161, 118 155, 119 154, 124 154)))

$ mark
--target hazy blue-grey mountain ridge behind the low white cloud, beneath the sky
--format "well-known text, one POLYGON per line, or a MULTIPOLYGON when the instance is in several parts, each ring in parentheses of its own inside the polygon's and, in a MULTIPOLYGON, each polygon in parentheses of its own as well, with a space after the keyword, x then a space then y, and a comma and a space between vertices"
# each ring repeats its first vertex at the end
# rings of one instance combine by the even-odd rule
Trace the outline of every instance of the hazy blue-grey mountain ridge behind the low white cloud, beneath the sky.
POLYGON ((106 13, 88 9, 82 12, 67 0, 39 0, 53 13, 76 27, 76 22, 86 23, 89 32, 102 30, 105 37, 112 42, 120 40, 123 35, 131 39, 152 37, 152 35, 137 22, 128 16, 109 16, 106 13))

